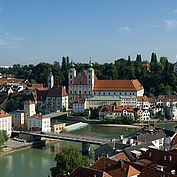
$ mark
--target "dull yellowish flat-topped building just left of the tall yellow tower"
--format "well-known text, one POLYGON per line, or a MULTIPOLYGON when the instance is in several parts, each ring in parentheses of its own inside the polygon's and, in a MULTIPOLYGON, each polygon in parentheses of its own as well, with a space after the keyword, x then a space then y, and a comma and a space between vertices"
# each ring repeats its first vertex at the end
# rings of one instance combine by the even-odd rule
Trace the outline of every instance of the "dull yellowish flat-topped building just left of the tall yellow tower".
POLYGON ((25 123, 25 113, 23 110, 17 110, 10 112, 12 116, 12 127, 14 128, 24 128, 25 123))

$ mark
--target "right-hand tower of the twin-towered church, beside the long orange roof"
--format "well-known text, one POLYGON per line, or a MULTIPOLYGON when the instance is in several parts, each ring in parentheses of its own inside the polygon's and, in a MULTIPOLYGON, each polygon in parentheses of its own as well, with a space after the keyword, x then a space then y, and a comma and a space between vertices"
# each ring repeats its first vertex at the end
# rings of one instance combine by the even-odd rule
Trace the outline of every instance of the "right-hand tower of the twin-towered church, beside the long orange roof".
POLYGON ((89 85, 89 95, 93 95, 93 88, 94 88, 94 83, 95 83, 95 79, 94 79, 94 69, 93 69, 93 65, 92 65, 92 61, 90 58, 90 63, 89 63, 89 67, 87 69, 87 85, 89 85))

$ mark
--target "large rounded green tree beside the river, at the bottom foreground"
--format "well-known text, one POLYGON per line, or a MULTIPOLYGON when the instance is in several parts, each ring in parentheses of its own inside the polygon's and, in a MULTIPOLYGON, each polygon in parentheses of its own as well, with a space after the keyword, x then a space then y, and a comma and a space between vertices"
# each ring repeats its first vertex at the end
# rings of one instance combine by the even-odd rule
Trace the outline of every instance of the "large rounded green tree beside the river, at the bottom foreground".
POLYGON ((50 168, 53 177, 59 173, 70 173, 78 166, 89 165, 89 158, 82 156, 79 149, 75 147, 62 149, 62 152, 56 155, 55 161, 57 162, 56 167, 50 168))

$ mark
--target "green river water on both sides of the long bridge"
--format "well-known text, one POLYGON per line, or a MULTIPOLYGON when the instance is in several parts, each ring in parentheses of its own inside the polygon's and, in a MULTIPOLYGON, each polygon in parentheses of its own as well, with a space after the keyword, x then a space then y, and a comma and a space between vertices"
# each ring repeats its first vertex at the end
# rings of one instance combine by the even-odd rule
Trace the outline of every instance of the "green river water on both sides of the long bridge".
MULTIPOLYGON (((173 126, 174 124, 160 125, 169 130, 172 130, 173 126)), ((71 133, 111 139, 119 138, 122 134, 128 135, 135 130, 89 124, 71 133)), ((55 166, 55 154, 71 145, 81 149, 81 143, 62 141, 43 148, 31 148, 0 157, 0 177, 47 177, 50 175, 50 167, 55 166)), ((96 147, 98 146, 91 145, 91 157, 96 147)))

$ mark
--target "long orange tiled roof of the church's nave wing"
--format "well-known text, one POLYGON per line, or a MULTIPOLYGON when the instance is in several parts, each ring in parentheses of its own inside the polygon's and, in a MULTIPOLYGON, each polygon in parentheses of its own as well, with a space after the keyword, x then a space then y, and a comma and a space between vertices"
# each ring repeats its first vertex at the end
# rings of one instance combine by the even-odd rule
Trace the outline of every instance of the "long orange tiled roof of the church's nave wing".
POLYGON ((96 80, 94 91, 138 91, 143 86, 136 80, 96 80))

